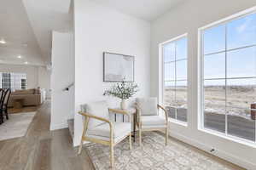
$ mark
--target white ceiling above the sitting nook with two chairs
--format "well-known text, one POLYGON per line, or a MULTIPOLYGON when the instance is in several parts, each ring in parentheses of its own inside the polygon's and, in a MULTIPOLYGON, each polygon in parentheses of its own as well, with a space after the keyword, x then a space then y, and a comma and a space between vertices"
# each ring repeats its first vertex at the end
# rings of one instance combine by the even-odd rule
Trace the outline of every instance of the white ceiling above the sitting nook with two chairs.
POLYGON ((143 20, 155 20, 185 0, 92 0, 143 20))

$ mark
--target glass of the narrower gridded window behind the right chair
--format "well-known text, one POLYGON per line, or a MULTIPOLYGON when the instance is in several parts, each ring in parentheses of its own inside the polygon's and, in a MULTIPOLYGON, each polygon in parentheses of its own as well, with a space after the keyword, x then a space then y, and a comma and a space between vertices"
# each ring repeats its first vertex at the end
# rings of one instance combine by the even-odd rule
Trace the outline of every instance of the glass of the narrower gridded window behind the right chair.
POLYGON ((163 102, 169 117, 187 122, 187 37, 162 44, 163 102))

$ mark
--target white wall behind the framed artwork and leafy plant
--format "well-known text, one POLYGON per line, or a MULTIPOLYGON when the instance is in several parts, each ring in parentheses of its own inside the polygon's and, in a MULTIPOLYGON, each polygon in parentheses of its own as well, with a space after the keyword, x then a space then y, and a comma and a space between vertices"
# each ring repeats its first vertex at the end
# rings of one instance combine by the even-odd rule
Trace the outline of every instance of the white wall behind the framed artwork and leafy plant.
MULTIPOLYGON (((102 53, 113 52, 135 56, 137 96, 149 96, 150 89, 150 25, 113 9, 87 0, 74 1, 75 32, 75 113, 80 105, 108 99, 110 106, 118 99, 105 98, 104 90, 112 83, 103 80, 102 53)), ((78 145, 82 134, 82 117, 75 114, 74 140, 78 145)))

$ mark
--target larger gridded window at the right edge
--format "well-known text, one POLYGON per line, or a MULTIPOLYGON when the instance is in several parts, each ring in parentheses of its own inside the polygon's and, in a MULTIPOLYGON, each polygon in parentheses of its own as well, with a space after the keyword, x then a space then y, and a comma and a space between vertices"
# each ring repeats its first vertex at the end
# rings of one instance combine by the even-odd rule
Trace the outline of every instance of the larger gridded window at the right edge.
POLYGON ((201 123, 255 142, 256 14, 201 29, 201 123))

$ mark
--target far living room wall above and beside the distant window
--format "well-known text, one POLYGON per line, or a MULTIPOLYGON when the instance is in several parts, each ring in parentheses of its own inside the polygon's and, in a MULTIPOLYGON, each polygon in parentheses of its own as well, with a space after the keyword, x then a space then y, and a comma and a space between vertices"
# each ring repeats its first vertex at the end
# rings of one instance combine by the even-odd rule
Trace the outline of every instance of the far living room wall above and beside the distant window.
POLYGON ((26 73, 26 88, 38 88, 38 66, 0 64, 0 72, 26 73))

